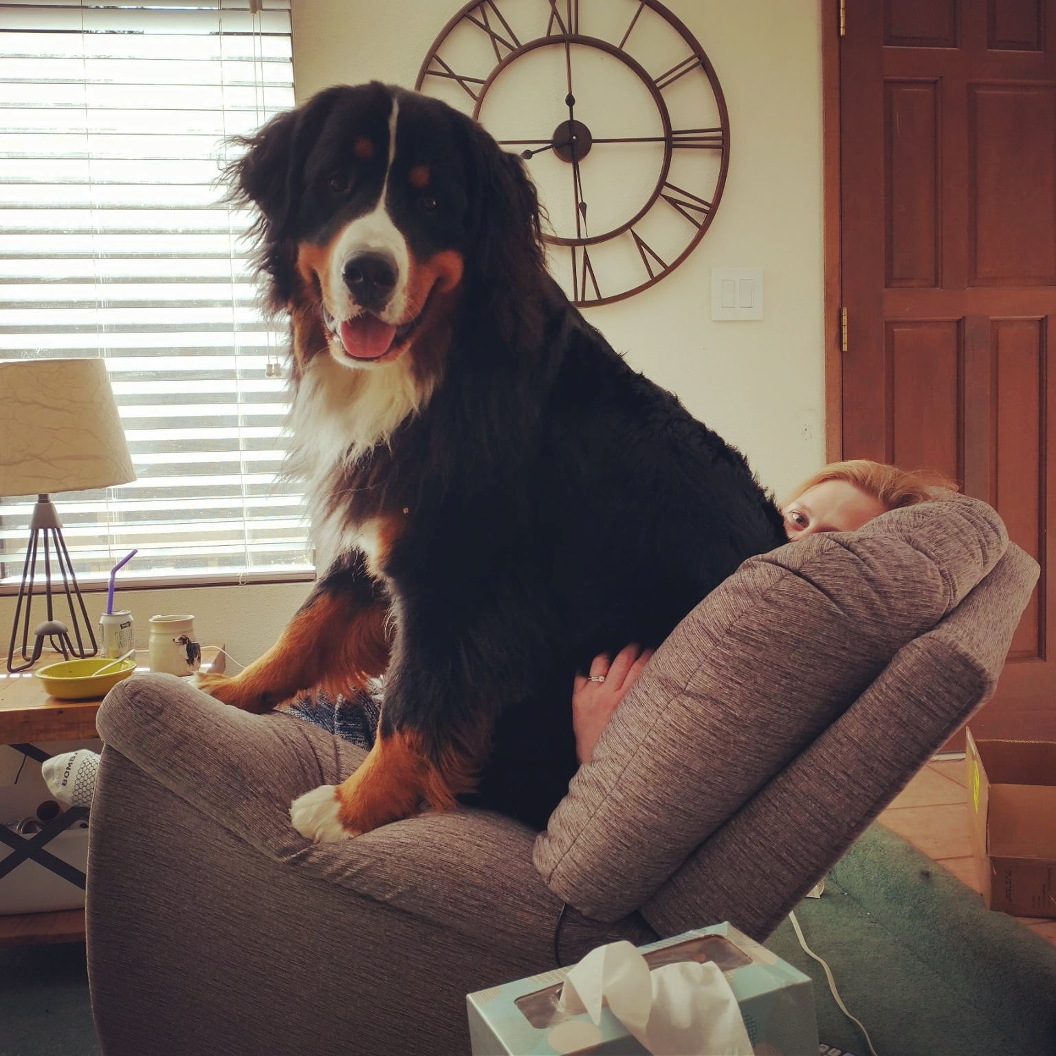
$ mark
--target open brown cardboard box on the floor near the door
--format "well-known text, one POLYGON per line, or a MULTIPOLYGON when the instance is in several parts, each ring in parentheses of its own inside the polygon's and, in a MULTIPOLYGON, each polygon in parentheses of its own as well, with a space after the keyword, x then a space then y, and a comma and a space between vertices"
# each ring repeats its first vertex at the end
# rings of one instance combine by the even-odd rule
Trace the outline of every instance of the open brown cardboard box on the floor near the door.
POLYGON ((1056 741, 967 731, 972 849, 991 909, 1056 917, 1056 741))

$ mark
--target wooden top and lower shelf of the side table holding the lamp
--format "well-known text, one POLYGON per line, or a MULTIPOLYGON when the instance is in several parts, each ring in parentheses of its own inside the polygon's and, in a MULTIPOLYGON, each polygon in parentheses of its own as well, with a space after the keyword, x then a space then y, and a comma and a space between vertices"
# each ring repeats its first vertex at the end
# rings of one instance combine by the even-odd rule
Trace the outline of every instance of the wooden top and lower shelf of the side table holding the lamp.
MULTIPOLYGON (((37 666, 43 667, 61 659, 58 654, 45 655, 37 666)), ((202 666, 220 673, 224 671, 224 659, 219 649, 205 648, 202 666)), ((101 703, 102 697, 90 700, 50 697, 32 672, 0 676, 0 744, 11 744, 31 758, 40 759, 41 756, 46 758, 46 753, 36 748, 34 741, 91 740, 99 736, 95 715, 101 703)), ((82 942, 83 939, 83 909, 0 916, 0 946, 82 942)))

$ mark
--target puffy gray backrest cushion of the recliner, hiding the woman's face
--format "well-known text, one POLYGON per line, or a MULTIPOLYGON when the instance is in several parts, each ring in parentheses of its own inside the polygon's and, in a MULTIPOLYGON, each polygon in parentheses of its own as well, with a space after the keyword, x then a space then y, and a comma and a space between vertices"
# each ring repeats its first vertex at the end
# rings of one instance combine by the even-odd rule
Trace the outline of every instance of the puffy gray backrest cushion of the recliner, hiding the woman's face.
POLYGON ((1006 547, 991 507, 944 492, 744 562, 656 652, 536 840, 551 889, 599 920, 640 906, 1006 547))

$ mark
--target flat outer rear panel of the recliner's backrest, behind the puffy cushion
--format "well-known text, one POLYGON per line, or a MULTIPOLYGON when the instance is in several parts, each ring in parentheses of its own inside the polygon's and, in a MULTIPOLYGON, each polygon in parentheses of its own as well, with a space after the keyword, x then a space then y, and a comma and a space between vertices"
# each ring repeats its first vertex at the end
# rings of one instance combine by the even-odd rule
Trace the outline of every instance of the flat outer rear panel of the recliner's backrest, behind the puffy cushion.
POLYGON ((993 695, 1038 564, 1008 545, 934 630, 899 650, 851 706, 641 907, 658 935, 730 920, 766 940, 922 766, 993 695))

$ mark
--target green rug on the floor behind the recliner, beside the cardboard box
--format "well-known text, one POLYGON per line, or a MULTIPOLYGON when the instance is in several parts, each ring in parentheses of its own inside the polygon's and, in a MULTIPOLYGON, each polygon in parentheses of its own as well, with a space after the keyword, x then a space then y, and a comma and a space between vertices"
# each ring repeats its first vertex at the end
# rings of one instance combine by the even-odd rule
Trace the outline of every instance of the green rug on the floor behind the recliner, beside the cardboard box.
MULTIPOLYGON (((883 826, 796 919, 880 1056, 1056 1054, 1056 947, 883 826)), ((767 946, 814 980, 822 1041, 868 1056, 788 920, 767 946)))

